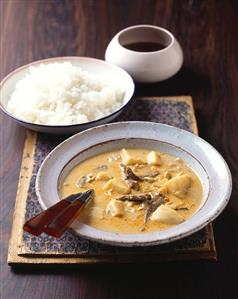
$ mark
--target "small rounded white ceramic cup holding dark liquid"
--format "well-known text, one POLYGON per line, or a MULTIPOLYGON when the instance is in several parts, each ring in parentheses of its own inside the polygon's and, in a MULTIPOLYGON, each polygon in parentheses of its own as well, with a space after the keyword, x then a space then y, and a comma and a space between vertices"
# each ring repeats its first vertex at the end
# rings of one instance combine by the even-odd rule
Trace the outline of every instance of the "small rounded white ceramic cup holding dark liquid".
POLYGON ((183 52, 168 30, 153 25, 136 25, 113 37, 106 49, 105 60, 126 70, 136 82, 152 83, 176 74, 183 64, 183 52), (161 43, 164 48, 139 52, 125 47, 138 42, 161 43))

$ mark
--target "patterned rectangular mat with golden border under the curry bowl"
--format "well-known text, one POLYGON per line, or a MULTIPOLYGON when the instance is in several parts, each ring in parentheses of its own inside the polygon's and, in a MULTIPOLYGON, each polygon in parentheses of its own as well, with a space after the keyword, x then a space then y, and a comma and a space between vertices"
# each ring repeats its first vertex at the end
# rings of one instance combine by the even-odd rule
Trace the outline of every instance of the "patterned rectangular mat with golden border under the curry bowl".
MULTIPOLYGON (((190 97, 137 98, 116 119, 143 120, 173 125, 197 134, 190 97)), ((83 239, 68 230, 56 239, 23 232, 23 223, 41 211, 35 194, 35 179, 46 155, 65 137, 27 132, 19 178, 8 262, 96 263, 175 259, 216 259, 212 226, 179 241, 149 247, 122 248, 83 239)))

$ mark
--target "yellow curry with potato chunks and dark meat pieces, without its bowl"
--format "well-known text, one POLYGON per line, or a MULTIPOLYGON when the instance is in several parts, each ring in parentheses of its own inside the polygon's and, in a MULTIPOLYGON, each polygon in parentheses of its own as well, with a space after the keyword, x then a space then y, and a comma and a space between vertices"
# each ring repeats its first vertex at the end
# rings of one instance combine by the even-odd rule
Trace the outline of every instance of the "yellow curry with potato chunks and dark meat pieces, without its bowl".
POLYGON ((79 220, 120 233, 144 233, 182 223, 199 208, 202 186, 180 158, 147 149, 121 149, 91 157, 67 175, 64 198, 94 189, 79 220))

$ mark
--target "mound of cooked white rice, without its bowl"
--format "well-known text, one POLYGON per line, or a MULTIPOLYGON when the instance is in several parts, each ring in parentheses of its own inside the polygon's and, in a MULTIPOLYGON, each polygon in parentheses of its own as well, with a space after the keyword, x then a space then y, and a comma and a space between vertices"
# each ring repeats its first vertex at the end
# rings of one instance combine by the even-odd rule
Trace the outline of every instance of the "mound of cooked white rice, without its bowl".
MULTIPOLYGON (((117 83, 118 84, 118 83, 117 83)), ((113 81, 70 62, 30 67, 8 102, 15 117, 44 125, 72 125, 96 120, 123 104, 124 90, 113 81)))

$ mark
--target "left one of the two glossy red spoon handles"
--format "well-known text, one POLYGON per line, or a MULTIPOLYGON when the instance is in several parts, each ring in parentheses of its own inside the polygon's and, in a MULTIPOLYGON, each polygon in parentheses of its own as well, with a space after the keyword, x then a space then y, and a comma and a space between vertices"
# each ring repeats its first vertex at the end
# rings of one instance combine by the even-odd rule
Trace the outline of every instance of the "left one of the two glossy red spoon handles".
POLYGON ((49 209, 28 220, 24 224, 23 229, 32 235, 39 236, 44 231, 44 227, 47 226, 52 219, 54 219, 54 217, 59 215, 59 213, 62 212, 63 209, 67 208, 70 204, 71 202, 65 199, 59 201, 49 209))

